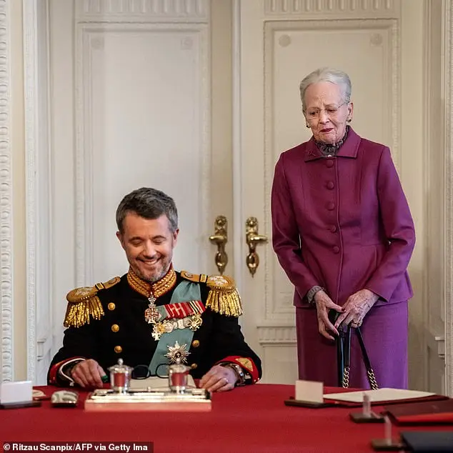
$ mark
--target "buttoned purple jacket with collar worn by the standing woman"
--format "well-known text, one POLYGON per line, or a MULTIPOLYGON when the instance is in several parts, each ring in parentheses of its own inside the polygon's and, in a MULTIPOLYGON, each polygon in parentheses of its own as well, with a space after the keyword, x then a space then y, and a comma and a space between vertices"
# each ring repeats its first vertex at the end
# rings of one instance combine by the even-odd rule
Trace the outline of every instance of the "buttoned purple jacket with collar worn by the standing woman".
POLYGON ((377 304, 412 297, 414 222, 390 150, 352 129, 337 156, 322 156, 313 138, 282 153, 272 242, 297 307, 307 307, 315 285, 339 305, 363 288, 379 295, 377 304))

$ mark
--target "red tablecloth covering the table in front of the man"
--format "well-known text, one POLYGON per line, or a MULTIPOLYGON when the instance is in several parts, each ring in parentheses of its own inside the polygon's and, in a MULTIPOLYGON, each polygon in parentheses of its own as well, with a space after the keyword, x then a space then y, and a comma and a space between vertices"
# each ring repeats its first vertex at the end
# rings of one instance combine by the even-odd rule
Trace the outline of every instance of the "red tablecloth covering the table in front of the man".
MULTIPOLYGON (((39 388, 49 395, 56 390, 39 388)), ((38 408, 0 410, 0 442, 154 442, 156 453, 352 453, 372 452, 370 439, 383 437, 382 424, 349 420, 357 409, 285 406, 293 393, 290 385, 255 384, 214 394, 211 412, 99 413, 84 412, 81 392, 75 409, 43 401, 38 408)), ((394 435, 409 429, 394 427, 394 435)))

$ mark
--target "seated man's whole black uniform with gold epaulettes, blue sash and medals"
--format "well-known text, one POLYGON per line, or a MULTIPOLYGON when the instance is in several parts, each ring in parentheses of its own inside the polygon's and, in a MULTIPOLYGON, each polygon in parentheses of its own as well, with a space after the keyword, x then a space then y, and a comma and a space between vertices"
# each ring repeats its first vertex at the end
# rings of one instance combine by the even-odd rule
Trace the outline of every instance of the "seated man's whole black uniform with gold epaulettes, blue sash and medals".
POLYGON ((67 299, 68 329, 51 362, 49 384, 70 384, 69 369, 81 359, 94 359, 107 372, 120 357, 129 367, 149 367, 151 375, 176 357, 195 379, 219 363, 235 364, 245 384, 262 375, 261 361, 239 327, 242 308, 229 277, 171 267, 149 284, 129 269, 121 278, 74 289, 67 299))

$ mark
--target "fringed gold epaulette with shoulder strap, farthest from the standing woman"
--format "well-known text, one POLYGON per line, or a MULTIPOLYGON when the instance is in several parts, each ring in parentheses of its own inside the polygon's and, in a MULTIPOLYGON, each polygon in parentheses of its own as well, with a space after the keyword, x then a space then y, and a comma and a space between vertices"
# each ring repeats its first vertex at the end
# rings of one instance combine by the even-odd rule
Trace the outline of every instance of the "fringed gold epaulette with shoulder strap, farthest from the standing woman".
POLYGON ((76 288, 70 291, 66 296, 68 307, 64 317, 64 327, 81 327, 89 324, 90 316, 93 319, 101 319, 101 316, 104 316, 104 309, 97 293, 100 289, 113 287, 120 280, 119 277, 114 277, 109 282, 97 283, 94 287, 76 288))

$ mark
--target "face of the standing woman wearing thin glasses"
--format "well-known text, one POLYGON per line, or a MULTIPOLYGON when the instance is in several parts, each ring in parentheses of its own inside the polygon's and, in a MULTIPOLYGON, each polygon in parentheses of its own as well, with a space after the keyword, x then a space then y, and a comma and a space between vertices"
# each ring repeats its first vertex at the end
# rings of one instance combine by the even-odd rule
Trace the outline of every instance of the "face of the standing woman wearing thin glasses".
POLYGON ((317 141, 335 144, 343 138, 354 106, 352 102, 344 102, 337 84, 320 81, 309 85, 305 91, 305 106, 305 119, 317 141))

